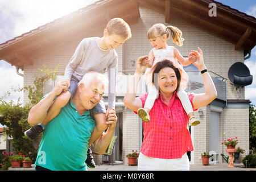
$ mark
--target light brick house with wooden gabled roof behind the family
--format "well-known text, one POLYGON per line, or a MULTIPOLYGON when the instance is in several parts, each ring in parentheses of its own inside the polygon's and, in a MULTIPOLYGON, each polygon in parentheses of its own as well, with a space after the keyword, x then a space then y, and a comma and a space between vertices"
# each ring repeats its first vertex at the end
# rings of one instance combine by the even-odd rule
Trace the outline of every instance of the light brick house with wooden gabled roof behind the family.
MULTIPOLYGON (((155 23, 171 24, 183 31, 185 42, 177 47, 183 56, 197 47, 203 50, 205 65, 217 88, 216 100, 195 112, 202 122, 190 128, 195 148, 189 154, 191 164, 201 163, 204 151, 216 154, 216 162, 225 162, 221 154, 228 154, 221 142, 230 137, 238 137, 238 146, 249 151, 250 101, 245 100, 245 88, 237 88, 228 79, 228 71, 232 64, 243 63, 250 56, 256 41, 256 19, 222 3, 212 0, 100 0, 0 44, 0 58, 15 65, 17 72, 24 71, 24 86, 33 84, 38 68, 43 65, 53 69, 59 64, 58 75, 61 75, 80 41, 86 37, 101 37, 106 23, 117 17, 130 24, 132 38, 116 49, 118 124, 115 135, 118 137, 115 160, 127 163, 126 155, 141 148, 142 122, 122 101, 129 73, 135 71, 135 61, 151 49, 146 32, 155 23), (209 11, 214 7, 217 16, 210 16, 209 11)), ((171 40, 168 44, 175 46, 171 40)), ((187 91, 204 92, 201 76, 192 72, 195 68, 184 69, 190 80, 187 91)), ((51 90, 54 84, 46 82, 44 92, 51 90)), ((145 92, 142 81, 138 96, 145 92)), ((27 96, 24 92, 25 103, 27 96)), ((104 98, 107 105, 106 94, 104 98)))

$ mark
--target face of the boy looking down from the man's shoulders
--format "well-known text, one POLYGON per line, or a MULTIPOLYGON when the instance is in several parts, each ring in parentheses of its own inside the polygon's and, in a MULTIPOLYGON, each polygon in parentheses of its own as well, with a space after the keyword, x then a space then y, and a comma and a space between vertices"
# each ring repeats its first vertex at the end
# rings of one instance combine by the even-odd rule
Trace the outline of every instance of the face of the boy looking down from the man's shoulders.
POLYGON ((108 32, 106 32, 104 36, 106 47, 108 47, 109 50, 113 50, 114 48, 122 46, 122 44, 127 40, 117 34, 109 35, 108 32))

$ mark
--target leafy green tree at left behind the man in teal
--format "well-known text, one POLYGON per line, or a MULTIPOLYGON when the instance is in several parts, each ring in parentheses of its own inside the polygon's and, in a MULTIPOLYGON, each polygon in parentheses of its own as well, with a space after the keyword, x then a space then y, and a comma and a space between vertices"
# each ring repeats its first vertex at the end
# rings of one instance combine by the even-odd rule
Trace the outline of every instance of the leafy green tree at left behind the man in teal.
MULTIPOLYGON (((12 88, 5 96, 0 97, 0 123, 6 126, 6 135, 12 138, 14 151, 16 153, 22 152, 22 154, 27 156, 29 155, 33 161, 36 159, 38 148, 35 148, 32 141, 24 136, 24 131, 31 127, 27 122, 28 112, 43 97, 44 81, 47 81, 49 78, 55 80, 55 73, 58 69, 59 65, 53 70, 49 70, 46 67, 39 69, 39 72, 42 72, 43 76, 36 76, 34 86, 24 87, 24 90, 28 91, 28 98, 30 99, 30 102, 24 106, 20 103, 20 98, 16 103, 14 101, 5 101, 5 98, 10 96, 11 93, 22 92, 22 88, 12 88)), ((37 139, 39 138, 40 136, 37 139)))

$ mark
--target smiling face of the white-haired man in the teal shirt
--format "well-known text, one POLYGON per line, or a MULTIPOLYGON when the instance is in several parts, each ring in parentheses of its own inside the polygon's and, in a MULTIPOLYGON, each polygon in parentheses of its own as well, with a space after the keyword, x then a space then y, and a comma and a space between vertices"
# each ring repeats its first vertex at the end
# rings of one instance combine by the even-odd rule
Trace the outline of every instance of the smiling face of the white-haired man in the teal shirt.
POLYGON ((104 94, 104 84, 101 80, 92 80, 87 86, 80 84, 79 92, 82 107, 89 110, 100 102, 104 94))

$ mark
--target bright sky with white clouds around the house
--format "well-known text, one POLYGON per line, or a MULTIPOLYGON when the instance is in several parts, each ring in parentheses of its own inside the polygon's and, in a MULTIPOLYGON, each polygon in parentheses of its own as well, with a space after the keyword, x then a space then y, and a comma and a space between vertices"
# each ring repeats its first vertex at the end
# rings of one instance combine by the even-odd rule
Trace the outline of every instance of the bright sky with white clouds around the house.
MULTIPOLYGON (((13 39, 61 16, 79 10, 93 3, 93 0, 0 0, 0 43, 13 39)), ((256 17, 255 0, 218 0, 243 13, 256 17)), ((245 61, 254 76, 253 84, 245 87, 245 98, 256 105, 256 47, 251 51, 250 59, 245 61)), ((12 86, 23 87, 23 77, 16 74, 15 67, 0 60, 0 97, 12 86)), ((18 98, 23 93, 13 93, 6 101, 18 98)))

